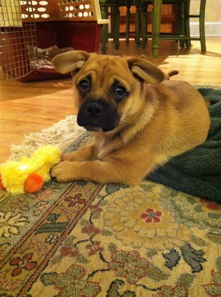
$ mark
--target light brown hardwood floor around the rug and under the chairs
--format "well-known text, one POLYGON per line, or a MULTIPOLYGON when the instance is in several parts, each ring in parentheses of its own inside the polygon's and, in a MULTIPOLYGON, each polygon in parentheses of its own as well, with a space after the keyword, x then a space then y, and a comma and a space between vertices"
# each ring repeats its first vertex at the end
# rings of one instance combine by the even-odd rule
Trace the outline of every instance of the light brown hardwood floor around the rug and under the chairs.
MULTIPOLYGON (((151 56, 151 42, 146 49, 137 48, 133 40, 129 46, 120 41, 119 50, 107 43, 107 54, 145 54, 162 70, 179 70, 172 79, 194 84, 221 84, 221 37, 207 37, 207 53, 201 54, 200 42, 192 42, 191 49, 179 48, 174 41, 161 41, 159 57, 151 56)), ((30 132, 40 132, 66 115, 76 113, 72 104, 71 78, 21 83, 18 80, 0 81, 0 162, 10 155, 10 145, 19 144, 30 132)))

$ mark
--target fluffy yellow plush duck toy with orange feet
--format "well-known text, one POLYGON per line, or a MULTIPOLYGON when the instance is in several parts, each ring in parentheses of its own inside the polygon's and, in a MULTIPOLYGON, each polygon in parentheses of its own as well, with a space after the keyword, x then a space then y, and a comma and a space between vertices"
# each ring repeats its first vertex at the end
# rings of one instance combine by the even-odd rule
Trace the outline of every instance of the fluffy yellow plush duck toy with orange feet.
POLYGON ((0 189, 12 195, 39 191, 44 181, 50 180, 50 169, 59 163, 61 152, 52 145, 41 146, 30 158, 6 161, 0 165, 0 189))

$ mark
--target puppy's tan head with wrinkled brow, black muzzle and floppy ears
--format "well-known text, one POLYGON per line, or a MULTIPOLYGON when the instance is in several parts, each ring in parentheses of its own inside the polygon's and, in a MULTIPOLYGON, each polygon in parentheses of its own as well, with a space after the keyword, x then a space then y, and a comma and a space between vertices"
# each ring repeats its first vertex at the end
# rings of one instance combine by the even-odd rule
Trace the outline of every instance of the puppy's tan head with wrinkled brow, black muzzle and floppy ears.
POLYGON ((55 56, 54 67, 71 72, 78 90, 79 126, 96 132, 122 129, 147 104, 145 84, 158 84, 164 73, 145 59, 72 51, 55 56))

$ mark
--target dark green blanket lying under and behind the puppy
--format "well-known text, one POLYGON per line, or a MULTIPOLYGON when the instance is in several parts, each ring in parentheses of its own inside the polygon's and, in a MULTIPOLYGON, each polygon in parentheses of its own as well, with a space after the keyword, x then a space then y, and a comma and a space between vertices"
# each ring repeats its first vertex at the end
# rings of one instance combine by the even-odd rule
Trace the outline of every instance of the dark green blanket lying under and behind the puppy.
POLYGON ((221 89, 198 91, 211 101, 211 126, 206 142, 174 157, 147 179, 221 203, 221 89))

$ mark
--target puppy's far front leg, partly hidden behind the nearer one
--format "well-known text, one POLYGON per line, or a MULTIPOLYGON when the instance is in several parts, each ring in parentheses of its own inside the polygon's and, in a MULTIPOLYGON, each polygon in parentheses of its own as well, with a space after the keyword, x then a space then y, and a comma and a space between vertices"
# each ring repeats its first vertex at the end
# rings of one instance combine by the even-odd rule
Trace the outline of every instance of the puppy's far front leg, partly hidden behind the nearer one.
POLYGON ((81 161, 88 161, 91 159, 96 159, 96 149, 93 145, 93 143, 86 144, 82 146, 77 151, 73 151, 69 154, 62 154, 61 156, 61 162, 62 161, 75 161, 75 162, 81 162, 81 161))

